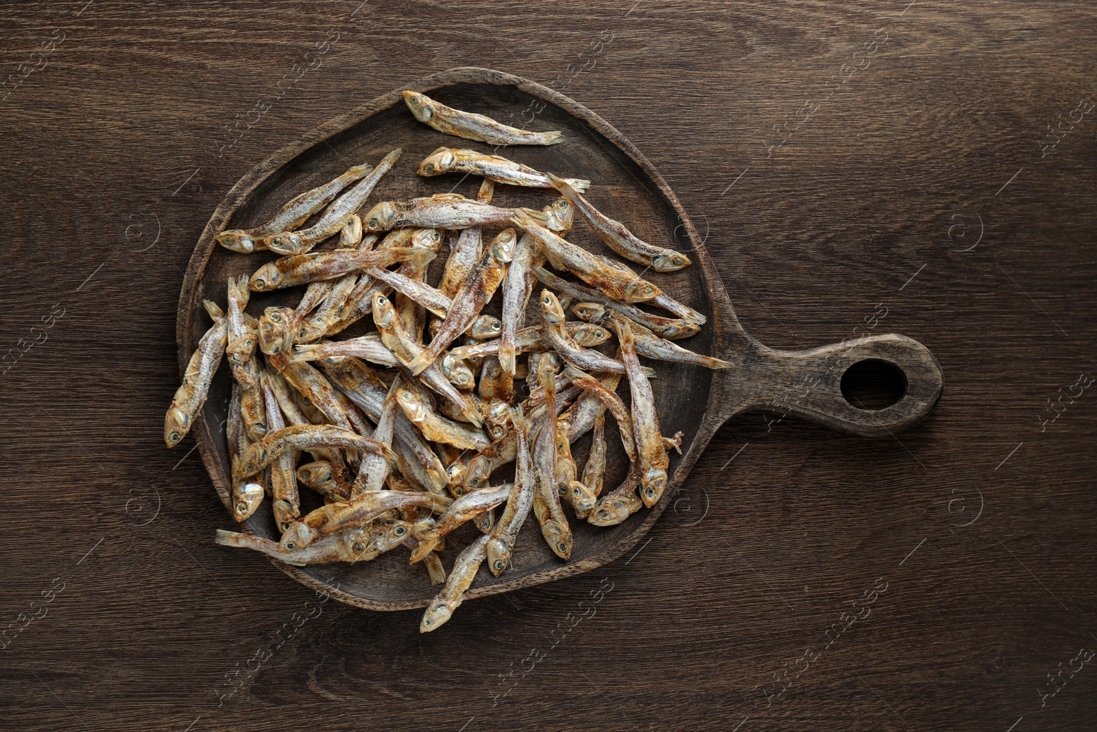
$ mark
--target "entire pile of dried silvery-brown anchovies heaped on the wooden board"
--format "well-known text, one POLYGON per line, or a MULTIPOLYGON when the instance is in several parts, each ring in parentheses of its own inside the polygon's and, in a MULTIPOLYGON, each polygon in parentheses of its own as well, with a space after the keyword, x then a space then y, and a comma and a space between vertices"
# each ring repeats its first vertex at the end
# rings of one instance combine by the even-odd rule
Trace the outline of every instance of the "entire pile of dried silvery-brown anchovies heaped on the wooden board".
MULTIPOLYGON (((561 142, 558 132, 518 129, 422 94, 404 97, 419 121, 450 135, 491 145, 561 142)), ((399 155, 395 149, 376 167, 355 166, 302 193, 262 226, 217 236, 233 251, 283 256, 248 281, 229 278, 225 311, 205 302, 214 325, 168 409, 165 440, 174 447, 186 435, 227 353, 233 517, 244 521, 269 496, 282 539, 218 531, 217 541, 294 565, 367 561, 409 547, 411 562, 422 561, 432 583, 443 585, 422 618, 426 632, 450 618, 485 559, 495 575, 507 568, 531 508, 552 551, 566 560, 572 531, 562 499, 576 518, 596 526, 614 526, 659 500, 667 450, 680 447, 681 435, 668 439, 659 431, 651 371, 640 356, 711 369, 731 364, 671 342, 698 333, 704 316, 631 268, 564 238, 578 211, 630 261, 660 272, 690 264, 595 209, 583 195, 589 181, 442 147, 418 173, 483 177, 475 200, 443 193, 377 203, 359 215, 399 155), (561 198, 542 211, 498 207, 491 205, 496 183, 548 189, 561 198), (485 244, 482 228, 504 223, 517 229, 485 244), (443 233, 451 236, 450 254, 431 285, 427 264, 443 233), (336 248, 312 251, 336 236, 336 248), (540 319, 527 326, 538 281, 540 319), (268 307, 258 319, 245 312, 250 292, 296 285, 307 285, 296 308, 268 307), (501 318, 482 314, 497 291, 501 318), (566 320, 572 303, 579 320, 566 320), (329 339, 366 316, 372 333, 329 339), (592 348, 611 334, 617 358, 592 348), (519 399, 514 381, 523 378, 525 397, 519 399), (617 394, 622 378, 629 406, 617 394), (624 483, 603 494, 606 412, 617 421, 630 470, 624 483), (580 475, 570 443, 587 432, 592 443, 580 475), (312 462, 298 465, 303 452, 312 462), (513 482, 490 485, 491 473, 511 461, 513 482), (325 505, 302 516, 299 484, 318 492, 325 505), (446 577, 437 552, 465 522, 483 533, 446 577)))

